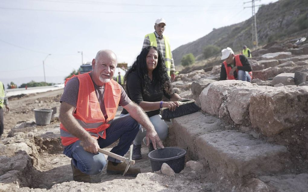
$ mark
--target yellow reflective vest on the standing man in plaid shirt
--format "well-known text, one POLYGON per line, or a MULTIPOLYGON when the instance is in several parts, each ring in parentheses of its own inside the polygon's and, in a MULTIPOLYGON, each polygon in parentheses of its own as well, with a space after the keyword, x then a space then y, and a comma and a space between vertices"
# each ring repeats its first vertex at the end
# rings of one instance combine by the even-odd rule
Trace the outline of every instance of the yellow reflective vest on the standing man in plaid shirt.
MULTIPOLYGON (((156 41, 155 33, 147 34, 145 37, 148 37, 148 36, 149 36, 149 40, 150 40, 150 46, 157 47, 157 41, 156 41)), ((165 61, 165 65, 166 65, 166 68, 167 68, 168 76, 170 76, 171 48, 170 48, 169 38, 167 36, 165 36, 165 35, 163 37, 164 37, 164 42, 165 42, 165 57, 164 57, 164 61, 165 61)))

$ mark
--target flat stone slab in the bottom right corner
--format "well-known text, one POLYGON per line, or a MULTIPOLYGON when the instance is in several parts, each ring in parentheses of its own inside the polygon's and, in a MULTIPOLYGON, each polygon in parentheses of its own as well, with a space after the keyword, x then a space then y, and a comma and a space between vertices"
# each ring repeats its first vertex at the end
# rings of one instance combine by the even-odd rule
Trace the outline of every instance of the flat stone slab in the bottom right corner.
POLYGON ((286 174, 277 176, 261 176, 261 181, 265 182, 273 191, 279 192, 306 192, 308 189, 308 174, 286 174))

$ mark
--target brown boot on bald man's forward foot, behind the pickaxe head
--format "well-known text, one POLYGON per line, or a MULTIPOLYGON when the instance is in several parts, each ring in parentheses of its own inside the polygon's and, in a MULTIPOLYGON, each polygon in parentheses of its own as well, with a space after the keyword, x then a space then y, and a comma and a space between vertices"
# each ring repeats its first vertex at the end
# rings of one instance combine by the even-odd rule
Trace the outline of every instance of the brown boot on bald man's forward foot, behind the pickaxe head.
MULTIPOLYGON (((125 169, 126 169, 126 163, 114 163, 108 161, 107 174, 109 175, 115 175, 115 174, 123 175, 125 169)), ((136 177, 138 173, 141 173, 139 168, 129 167, 124 176, 136 177)))

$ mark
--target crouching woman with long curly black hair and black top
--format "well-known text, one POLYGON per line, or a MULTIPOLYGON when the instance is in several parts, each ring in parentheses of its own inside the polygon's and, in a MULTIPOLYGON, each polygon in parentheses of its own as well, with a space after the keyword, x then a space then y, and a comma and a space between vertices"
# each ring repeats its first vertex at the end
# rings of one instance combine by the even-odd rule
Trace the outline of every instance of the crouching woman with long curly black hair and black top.
MULTIPOLYGON (((181 98, 178 94, 172 92, 171 81, 160 51, 156 47, 145 47, 125 74, 124 82, 126 82, 128 97, 136 104, 139 104, 147 113, 160 140, 166 139, 168 125, 164 120, 161 120, 160 108, 168 107, 169 110, 174 111, 179 106, 177 101, 181 98), (163 96, 170 99, 170 101, 161 101, 163 96)), ((127 113, 123 109, 121 115, 127 113)), ((146 131, 140 128, 134 140, 132 159, 142 159, 141 142, 145 136, 146 131)), ((149 144, 148 147, 149 151, 154 150, 152 144, 149 144)))

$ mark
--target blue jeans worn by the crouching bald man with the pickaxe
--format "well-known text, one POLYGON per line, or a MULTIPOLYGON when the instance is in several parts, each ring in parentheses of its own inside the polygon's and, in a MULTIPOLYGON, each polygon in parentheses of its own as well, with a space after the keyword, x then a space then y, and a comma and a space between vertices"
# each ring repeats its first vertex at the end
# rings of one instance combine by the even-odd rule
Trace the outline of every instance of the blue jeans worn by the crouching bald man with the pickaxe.
MULTIPOLYGON (((114 119, 110 126, 105 130, 106 139, 101 137, 97 139, 99 147, 107 147, 120 139, 118 145, 113 147, 111 152, 124 156, 132 144, 132 141, 135 139, 139 129, 140 124, 129 115, 114 119)), ((99 174, 106 165, 106 159, 102 153, 93 154, 84 151, 83 147, 80 146, 80 140, 67 146, 64 149, 63 154, 72 158, 73 165, 86 174, 99 174)), ((109 156, 107 159, 108 161, 116 163, 121 162, 120 160, 109 156)))

